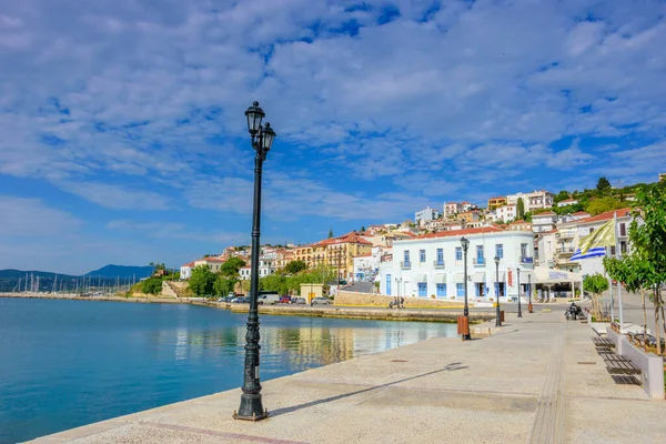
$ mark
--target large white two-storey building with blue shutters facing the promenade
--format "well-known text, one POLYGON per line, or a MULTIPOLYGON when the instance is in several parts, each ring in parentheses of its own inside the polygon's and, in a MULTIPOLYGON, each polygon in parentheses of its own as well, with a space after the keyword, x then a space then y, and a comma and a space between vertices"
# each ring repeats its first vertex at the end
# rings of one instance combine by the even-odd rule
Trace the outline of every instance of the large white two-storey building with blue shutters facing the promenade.
POLYGON ((522 294, 527 276, 534 270, 534 235, 529 232, 504 231, 495 226, 443 231, 393 244, 391 262, 380 266, 383 294, 404 297, 462 300, 467 287, 472 301, 490 302, 515 299, 518 294, 517 269, 521 270, 522 294), (461 238, 470 241, 467 281, 461 238), (500 261, 498 286, 493 258, 500 261))

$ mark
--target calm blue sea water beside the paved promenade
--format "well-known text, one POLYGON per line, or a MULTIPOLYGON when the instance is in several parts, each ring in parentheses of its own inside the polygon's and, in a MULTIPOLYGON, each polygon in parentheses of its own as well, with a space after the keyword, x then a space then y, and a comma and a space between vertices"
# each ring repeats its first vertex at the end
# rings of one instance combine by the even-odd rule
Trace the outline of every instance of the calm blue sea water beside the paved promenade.
MULTIPOLYGON (((240 387, 246 317, 195 305, 0 299, 0 443, 240 387)), ((451 324, 262 316, 261 375, 455 333, 451 324)))

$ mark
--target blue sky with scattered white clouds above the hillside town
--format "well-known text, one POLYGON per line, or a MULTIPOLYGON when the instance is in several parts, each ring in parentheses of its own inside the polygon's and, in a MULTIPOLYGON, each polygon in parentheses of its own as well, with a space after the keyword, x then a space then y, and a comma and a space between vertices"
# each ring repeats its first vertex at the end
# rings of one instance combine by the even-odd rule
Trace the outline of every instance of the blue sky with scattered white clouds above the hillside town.
POLYGON ((0 269, 180 266, 445 201, 655 182, 666 3, 0 2, 0 269))

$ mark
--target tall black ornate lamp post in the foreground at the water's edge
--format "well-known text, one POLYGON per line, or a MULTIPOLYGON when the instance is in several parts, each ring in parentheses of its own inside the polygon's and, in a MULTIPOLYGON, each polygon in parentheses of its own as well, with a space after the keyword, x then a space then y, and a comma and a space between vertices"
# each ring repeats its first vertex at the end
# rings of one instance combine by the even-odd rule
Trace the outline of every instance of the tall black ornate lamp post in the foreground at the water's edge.
POLYGON ((245 111, 248 118, 248 131, 252 140, 254 155, 254 203, 252 211, 252 258, 250 271, 250 313, 248 314, 248 332, 245 333, 245 371, 243 381, 243 394, 238 413, 233 412, 236 420, 259 421, 269 416, 269 411, 263 408, 261 402, 261 383, 259 376, 259 250, 260 250, 260 225, 261 225, 261 174, 266 154, 275 138, 275 131, 270 123, 263 127, 261 121, 265 113, 259 108, 259 102, 245 111))

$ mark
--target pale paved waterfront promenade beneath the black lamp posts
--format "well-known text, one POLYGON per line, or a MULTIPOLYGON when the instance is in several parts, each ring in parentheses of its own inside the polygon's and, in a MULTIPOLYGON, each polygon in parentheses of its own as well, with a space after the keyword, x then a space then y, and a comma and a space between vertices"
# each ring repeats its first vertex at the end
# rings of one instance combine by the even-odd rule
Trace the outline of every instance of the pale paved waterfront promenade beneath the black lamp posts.
POLYGON ((613 382, 591 334, 561 310, 508 315, 483 340, 431 339, 268 381, 271 417, 259 423, 231 418, 234 390, 37 442, 663 443, 666 402, 613 382))

